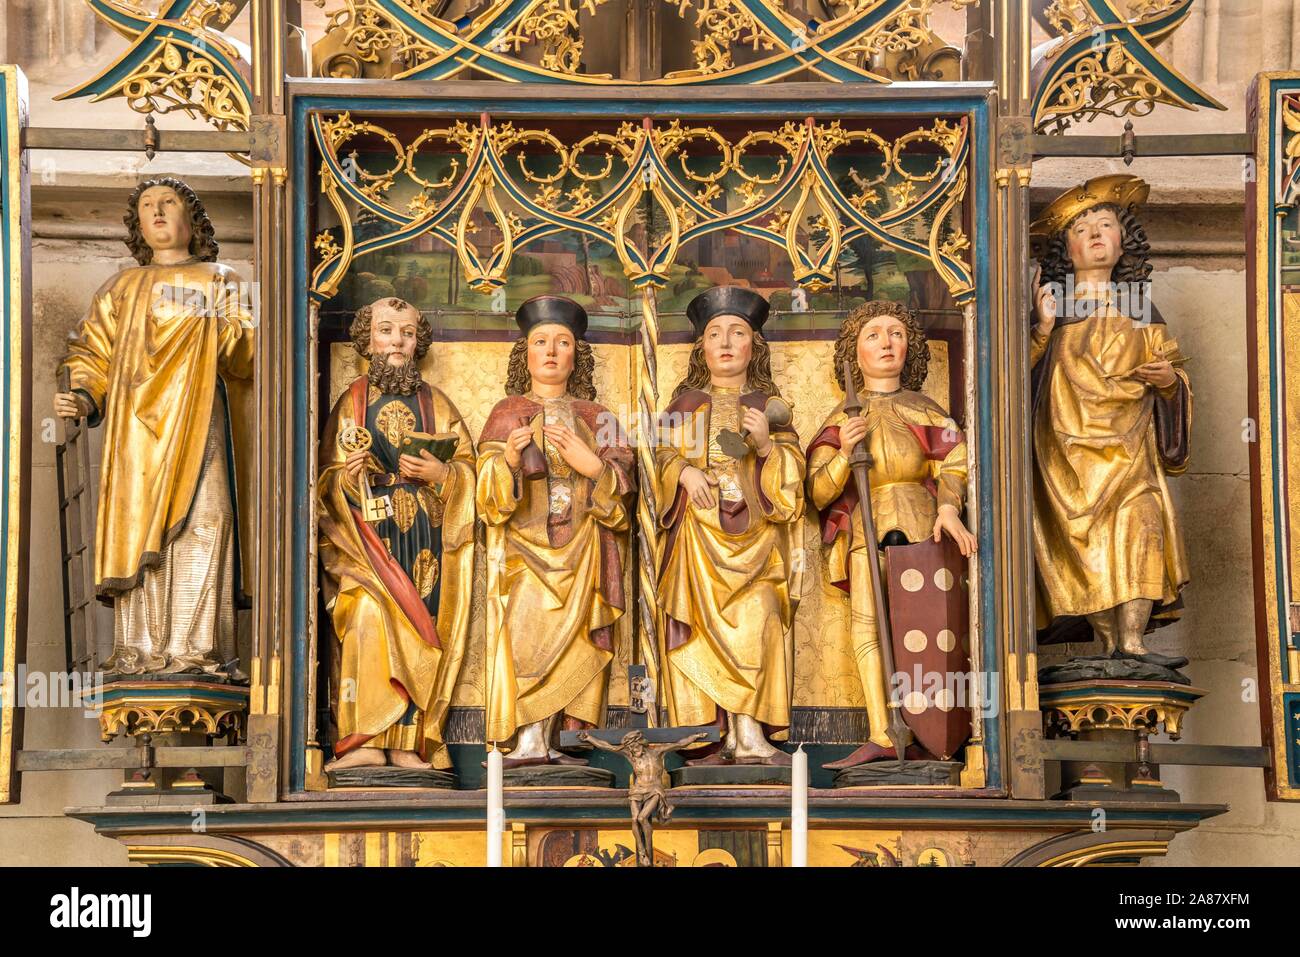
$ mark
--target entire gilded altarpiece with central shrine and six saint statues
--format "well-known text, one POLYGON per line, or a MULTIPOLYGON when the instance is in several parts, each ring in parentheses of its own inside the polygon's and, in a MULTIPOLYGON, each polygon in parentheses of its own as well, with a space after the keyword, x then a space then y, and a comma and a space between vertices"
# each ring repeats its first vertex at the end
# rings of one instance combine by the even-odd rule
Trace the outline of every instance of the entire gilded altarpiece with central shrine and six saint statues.
POLYGON ((216 126, 255 256, 142 177, 136 265, 56 372, 103 737, 238 745, 77 815, 151 862, 202 804, 196 859, 659 866, 1134 862, 1219 813, 1148 740, 1205 694, 1148 644, 1197 588, 1160 185, 1028 196, 1035 137, 1218 105, 1154 52, 1190 1, 957 0, 1004 90, 931 3, 832 5, 811 47, 784 4, 712 4, 690 62, 625 38, 615 77, 567 7, 348 1, 308 78, 280 4, 247 64, 243 4, 92 0, 135 46, 69 95, 216 126))

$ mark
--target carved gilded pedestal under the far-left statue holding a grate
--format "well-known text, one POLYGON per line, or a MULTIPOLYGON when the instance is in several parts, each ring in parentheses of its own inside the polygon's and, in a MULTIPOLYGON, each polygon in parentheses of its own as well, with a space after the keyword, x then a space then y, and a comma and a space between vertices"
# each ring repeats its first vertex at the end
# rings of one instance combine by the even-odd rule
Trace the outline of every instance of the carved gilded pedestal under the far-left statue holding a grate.
POLYGON ((108 679, 83 696, 99 714, 100 736, 135 739, 148 766, 127 771, 105 804, 195 806, 229 802, 221 767, 156 767, 153 748, 202 748, 213 739, 234 744, 248 713, 248 687, 199 675, 131 675, 108 679))

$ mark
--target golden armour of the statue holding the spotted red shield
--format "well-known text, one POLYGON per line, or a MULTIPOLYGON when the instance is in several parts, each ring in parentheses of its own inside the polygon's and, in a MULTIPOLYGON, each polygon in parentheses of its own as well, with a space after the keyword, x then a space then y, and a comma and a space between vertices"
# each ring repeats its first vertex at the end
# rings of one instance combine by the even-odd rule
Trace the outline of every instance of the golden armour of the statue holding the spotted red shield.
POLYGON ((822 545, 827 580, 848 590, 849 636, 867 702, 870 740, 889 746, 884 664, 876 603, 871 590, 871 564, 880 562, 879 542, 901 532, 909 542, 935 533, 939 506, 962 510, 966 499, 966 438, 932 399, 909 390, 863 393, 867 450, 871 471, 871 515, 876 542, 867 547, 858 508, 853 468, 840 447, 840 429, 848 421, 844 402, 822 424, 809 446, 807 493, 822 516, 822 545))

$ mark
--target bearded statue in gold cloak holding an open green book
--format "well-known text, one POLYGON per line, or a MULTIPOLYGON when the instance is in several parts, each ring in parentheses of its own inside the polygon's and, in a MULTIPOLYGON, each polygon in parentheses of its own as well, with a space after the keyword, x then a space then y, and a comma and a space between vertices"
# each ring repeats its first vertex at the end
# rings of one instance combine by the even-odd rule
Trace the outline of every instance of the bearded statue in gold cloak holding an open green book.
POLYGON ((433 328, 407 302, 358 311, 352 345, 370 360, 334 403, 320 442, 320 559, 337 637, 337 726, 329 768, 451 766, 442 726, 464 657, 473 585, 474 446, 451 400, 419 361, 433 328), (339 433, 364 425, 370 447, 346 452, 339 433), (455 433, 447 463, 400 451, 407 433, 455 433), (391 515, 361 518, 359 477, 391 515))

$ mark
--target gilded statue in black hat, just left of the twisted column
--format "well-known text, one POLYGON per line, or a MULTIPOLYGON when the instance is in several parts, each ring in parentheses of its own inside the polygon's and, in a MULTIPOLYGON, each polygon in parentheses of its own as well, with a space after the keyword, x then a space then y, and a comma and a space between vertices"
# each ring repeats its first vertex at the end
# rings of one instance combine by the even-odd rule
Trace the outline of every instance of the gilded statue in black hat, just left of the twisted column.
POLYGON ((558 732, 598 727, 615 623, 628 606, 624 562, 632 451, 595 402, 581 306, 523 303, 506 398, 478 446, 488 527, 486 740, 506 767, 585 765, 558 732))

